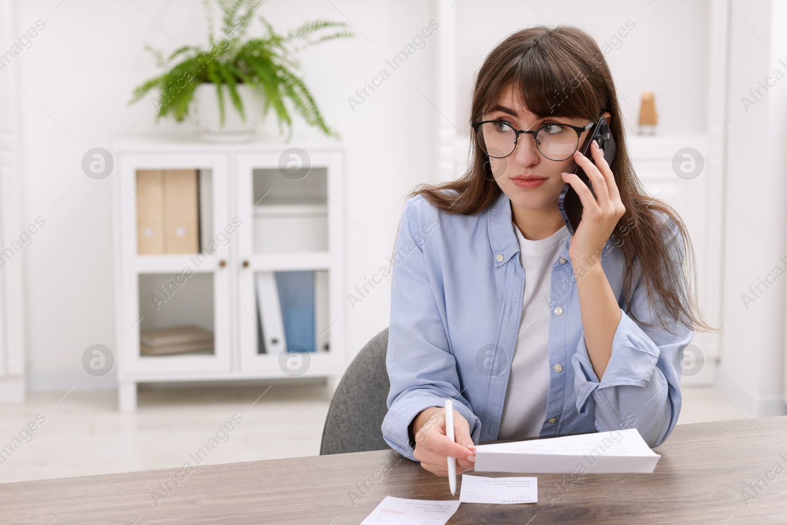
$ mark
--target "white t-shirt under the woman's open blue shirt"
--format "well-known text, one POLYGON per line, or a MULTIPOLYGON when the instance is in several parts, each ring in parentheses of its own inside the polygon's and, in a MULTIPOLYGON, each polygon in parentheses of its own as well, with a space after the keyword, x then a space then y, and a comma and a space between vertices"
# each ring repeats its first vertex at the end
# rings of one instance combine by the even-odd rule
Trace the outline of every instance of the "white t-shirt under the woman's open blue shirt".
POLYGON ((497 439, 531 438, 541 434, 549 395, 549 315, 552 264, 560 257, 568 228, 530 241, 512 223, 519 239, 519 261, 525 270, 525 289, 519 335, 516 336, 511 375, 497 439))

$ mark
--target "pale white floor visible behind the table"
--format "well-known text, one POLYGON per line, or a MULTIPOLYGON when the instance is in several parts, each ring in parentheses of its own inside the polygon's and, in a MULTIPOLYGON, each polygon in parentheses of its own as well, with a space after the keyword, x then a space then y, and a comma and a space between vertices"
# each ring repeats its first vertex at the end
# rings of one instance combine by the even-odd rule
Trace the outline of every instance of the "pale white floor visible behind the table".
MULTIPOLYGON (((31 394, 24 405, 0 407, 0 449, 37 414, 46 418, 0 457, 0 482, 194 465, 190 455, 211 438, 219 445, 201 464, 319 454, 331 402, 323 386, 266 388, 140 389, 135 414, 117 412, 114 391, 31 394), (233 416, 242 422, 224 434, 233 416)), ((678 424, 744 417, 712 386, 684 386, 683 395, 678 424)))

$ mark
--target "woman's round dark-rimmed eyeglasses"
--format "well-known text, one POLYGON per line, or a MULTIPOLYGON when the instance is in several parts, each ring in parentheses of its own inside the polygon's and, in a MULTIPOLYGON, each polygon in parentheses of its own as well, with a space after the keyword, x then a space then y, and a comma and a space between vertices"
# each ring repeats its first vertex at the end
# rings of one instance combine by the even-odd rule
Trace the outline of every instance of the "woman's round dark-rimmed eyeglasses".
POLYGON ((482 120, 471 122, 471 126, 481 149, 490 157, 508 157, 516 149, 519 135, 527 133, 533 135, 541 155, 550 161, 565 161, 578 149, 579 137, 593 126, 593 121, 582 127, 548 123, 534 131, 515 129, 505 120, 482 120))

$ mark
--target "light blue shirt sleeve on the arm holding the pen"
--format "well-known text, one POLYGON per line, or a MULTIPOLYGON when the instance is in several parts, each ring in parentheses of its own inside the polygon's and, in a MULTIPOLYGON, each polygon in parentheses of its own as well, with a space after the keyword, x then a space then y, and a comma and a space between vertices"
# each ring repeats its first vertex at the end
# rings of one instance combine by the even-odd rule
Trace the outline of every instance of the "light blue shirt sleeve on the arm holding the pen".
POLYGON ((446 335, 442 283, 432 282, 423 249, 439 235, 436 210, 408 201, 402 214, 393 257, 391 312, 386 367, 390 379, 388 412, 382 421, 382 437, 392 449, 411 460, 413 445, 408 427, 431 406, 454 400, 454 409, 470 424, 471 438, 478 443, 481 422, 460 393, 456 360, 446 335))

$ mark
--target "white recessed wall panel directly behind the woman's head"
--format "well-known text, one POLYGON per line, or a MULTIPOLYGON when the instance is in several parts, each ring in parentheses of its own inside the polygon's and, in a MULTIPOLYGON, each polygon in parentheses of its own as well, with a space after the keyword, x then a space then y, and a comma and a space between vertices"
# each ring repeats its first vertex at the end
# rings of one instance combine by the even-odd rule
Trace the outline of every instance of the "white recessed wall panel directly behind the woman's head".
MULTIPOLYGON (((505 35, 529 24, 576 25, 611 49, 605 58, 623 116, 635 129, 643 91, 653 91, 662 135, 702 132, 708 68, 708 2, 460 2, 459 114, 469 117, 471 75, 505 35), (623 31, 630 20, 634 29, 623 31)), ((604 49, 603 49, 604 50, 604 49)), ((469 130, 469 126, 466 127, 469 130)))

